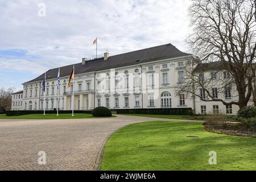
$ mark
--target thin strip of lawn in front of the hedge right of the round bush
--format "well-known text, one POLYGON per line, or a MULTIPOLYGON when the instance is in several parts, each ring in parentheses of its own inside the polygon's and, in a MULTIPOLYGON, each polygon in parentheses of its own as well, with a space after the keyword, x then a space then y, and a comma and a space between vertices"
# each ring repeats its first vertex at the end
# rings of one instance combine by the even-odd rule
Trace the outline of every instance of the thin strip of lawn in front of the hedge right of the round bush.
POLYGON ((134 115, 140 117, 150 118, 167 118, 167 119, 204 119, 204 115, 157 115, 157 114, 122 114, 122 115, 134 115))

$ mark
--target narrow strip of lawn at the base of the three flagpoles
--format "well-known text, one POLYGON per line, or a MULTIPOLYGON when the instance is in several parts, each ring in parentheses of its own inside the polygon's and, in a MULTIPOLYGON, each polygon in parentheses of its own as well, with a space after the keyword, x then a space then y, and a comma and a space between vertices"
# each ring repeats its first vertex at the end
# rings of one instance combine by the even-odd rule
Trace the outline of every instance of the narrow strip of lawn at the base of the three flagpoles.
POLYGON ((72 114, 27 114, 27 115, 18 115, 18 116, 6 116, 5 114, 0 114, 0 119, 79 119, 79 118, 96 118, 92 114, 82 114, 75 113, 72 117, 72 114))

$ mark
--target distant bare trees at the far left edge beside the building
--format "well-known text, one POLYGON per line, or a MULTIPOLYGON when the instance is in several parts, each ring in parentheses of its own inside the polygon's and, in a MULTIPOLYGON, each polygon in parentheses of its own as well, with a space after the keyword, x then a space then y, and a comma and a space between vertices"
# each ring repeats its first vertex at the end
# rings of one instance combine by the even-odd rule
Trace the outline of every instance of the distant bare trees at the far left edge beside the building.
POLYGON ((0 89, 0 111, 11 109, 11 94, 14 92, 14 89, 15 88, 9 88, 7 90, 4 88, 0 89))

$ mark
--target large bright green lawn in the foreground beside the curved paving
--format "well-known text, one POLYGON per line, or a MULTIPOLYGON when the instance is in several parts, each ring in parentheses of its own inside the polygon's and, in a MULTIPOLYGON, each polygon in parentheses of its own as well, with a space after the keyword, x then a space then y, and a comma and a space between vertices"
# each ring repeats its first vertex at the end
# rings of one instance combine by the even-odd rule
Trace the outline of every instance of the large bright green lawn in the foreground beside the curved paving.
POLYGON ((255 156, 256 138, 210 133, 201 123, 143 122, 109 138, 101 170, 256 170, 255 156), (217 165, 209 165, 210 151, 217 165))

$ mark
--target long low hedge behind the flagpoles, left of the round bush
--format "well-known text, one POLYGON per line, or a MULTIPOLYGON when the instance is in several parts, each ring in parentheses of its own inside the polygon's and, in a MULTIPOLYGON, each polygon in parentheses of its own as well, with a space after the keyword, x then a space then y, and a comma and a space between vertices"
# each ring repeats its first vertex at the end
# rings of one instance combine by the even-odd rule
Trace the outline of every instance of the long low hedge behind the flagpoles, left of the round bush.
MULTIPOLYGON (((43 110, 8 110, 7 116, 26 115, 26 114, 43 114, 43 110)), ((55 110, 46 110, 46 114, 56 114, 55 110)), ((59 110, 59 114, 70 114, 72 110, 59 110)), ((92 110, 74 110, 74 113, 92 114, 92 110)))

